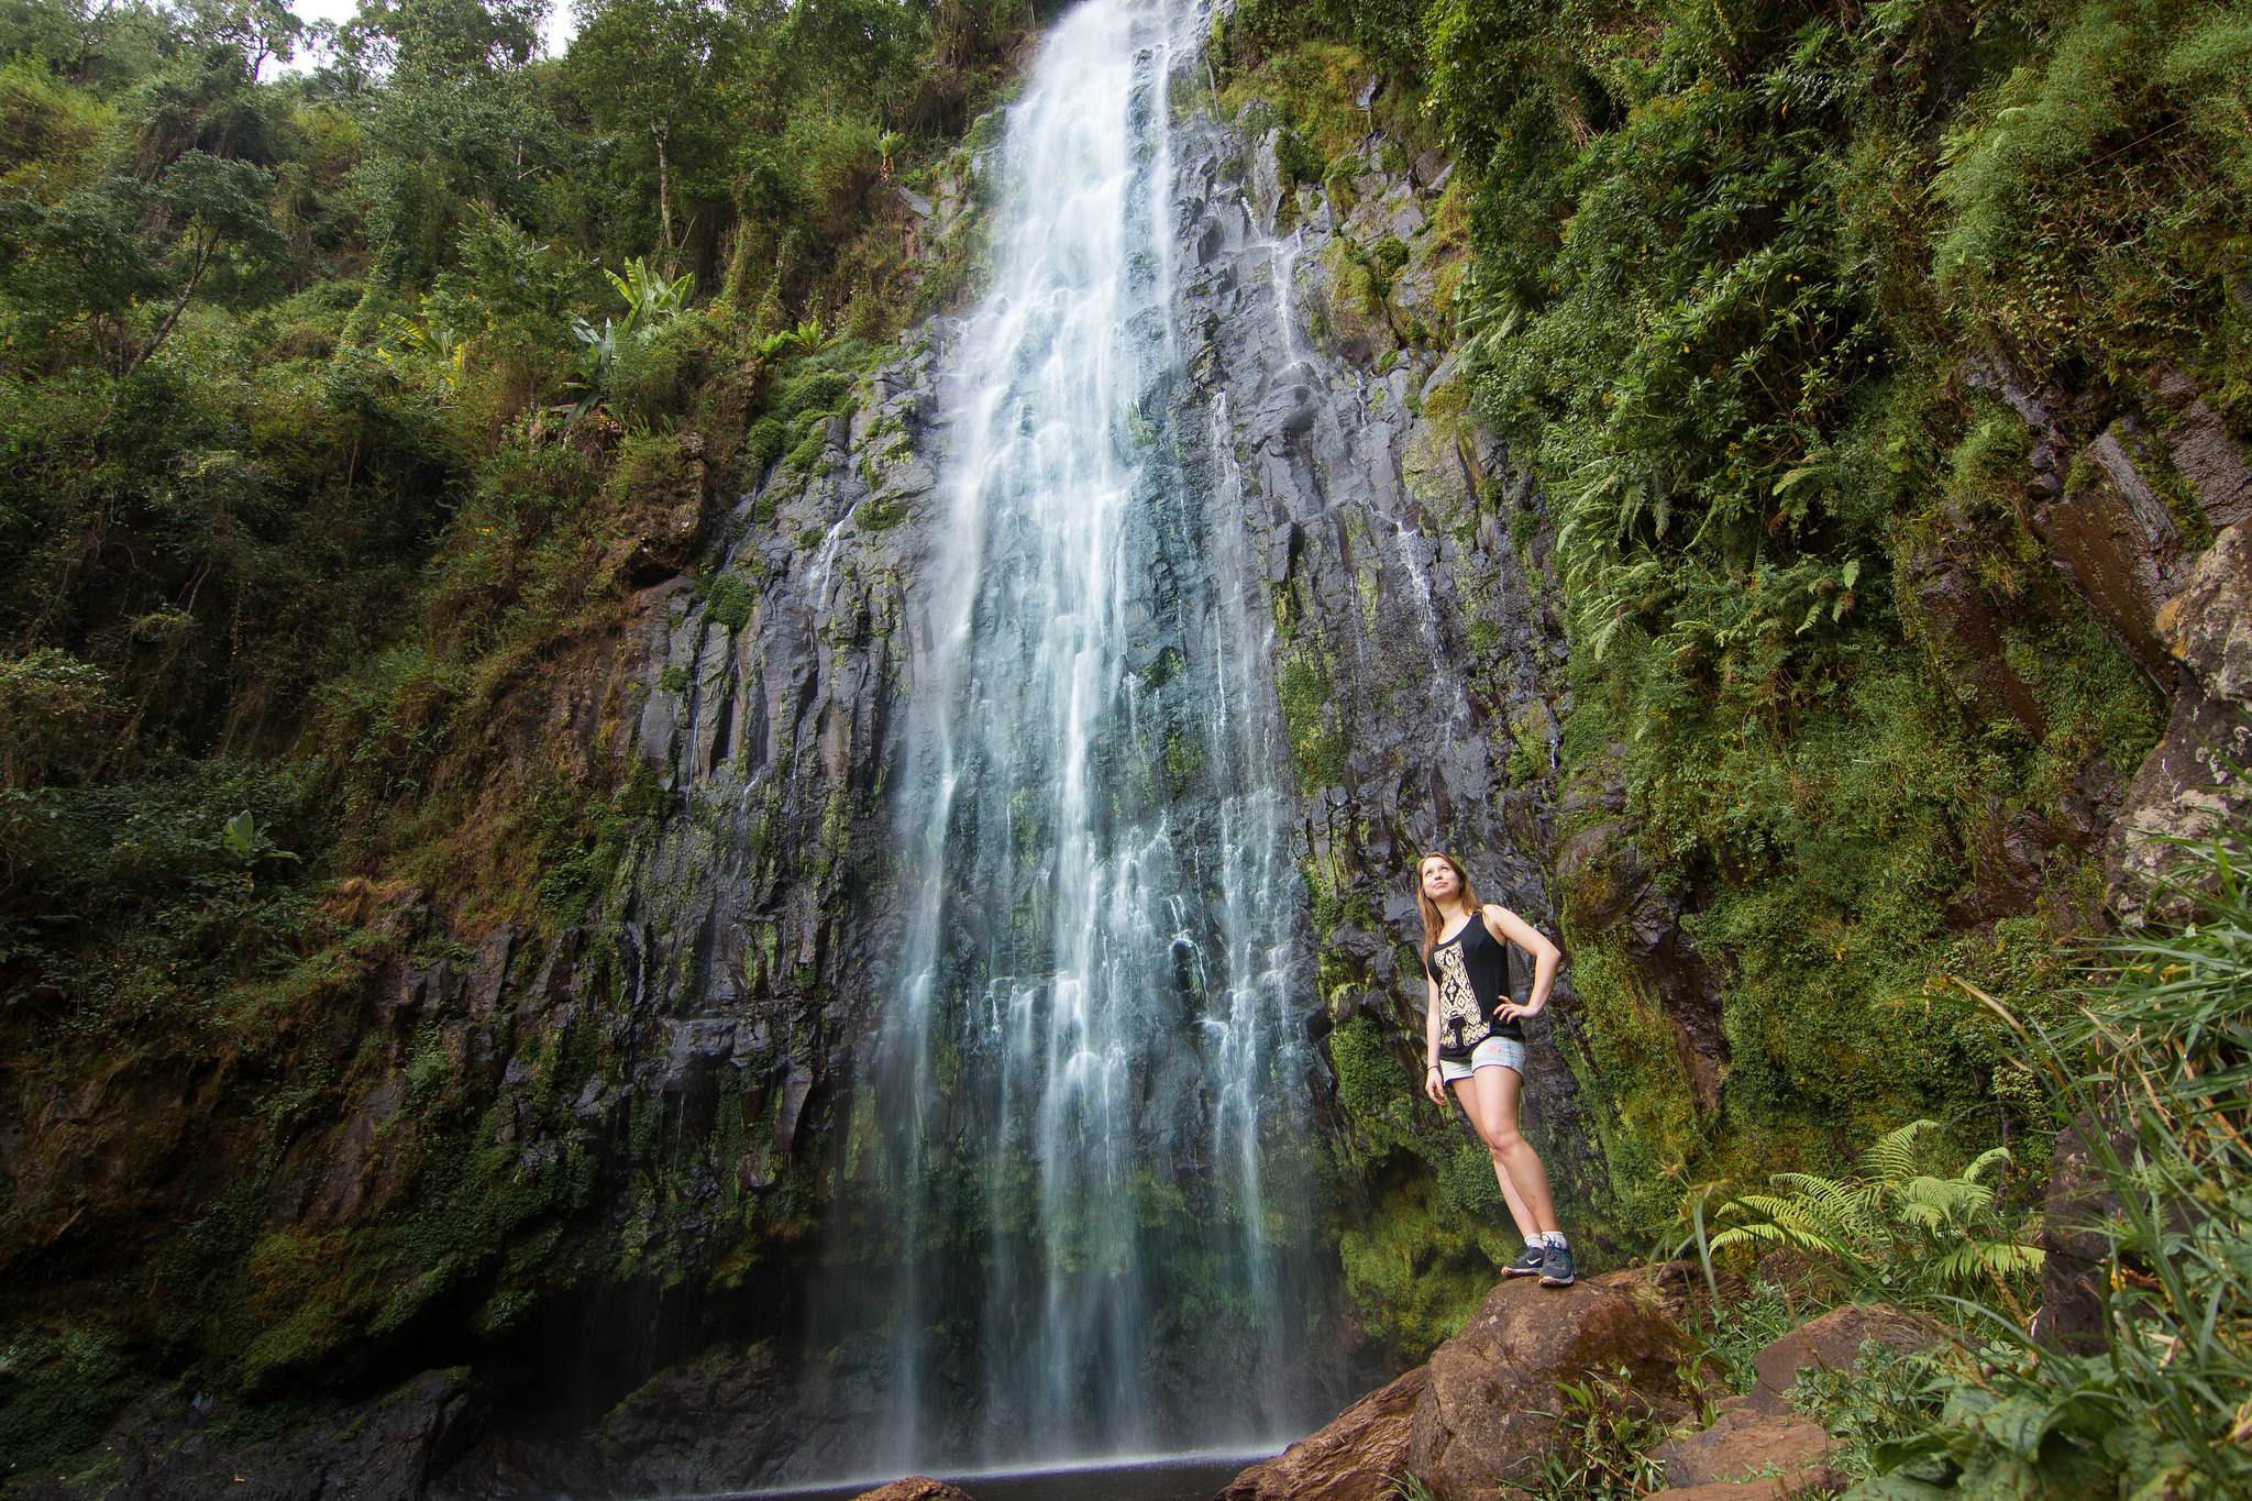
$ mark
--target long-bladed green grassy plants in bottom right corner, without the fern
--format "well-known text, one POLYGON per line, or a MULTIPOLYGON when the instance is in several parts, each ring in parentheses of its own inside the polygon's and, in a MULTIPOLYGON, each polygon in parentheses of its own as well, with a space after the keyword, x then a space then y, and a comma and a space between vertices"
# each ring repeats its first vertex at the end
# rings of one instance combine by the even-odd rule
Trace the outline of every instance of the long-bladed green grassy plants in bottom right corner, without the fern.
POLYGON ((2115 1213, 2103 1348, 2058 1350, 1966 1303, 1901 1438, 1871 1445, 1847 1501, 2252 1494, 2252 882, 2245 830, 2187 848, 2173 891, 2198 920, 2108 950, 2110 979, 2058 1035, 1991 997, 2083 1123, 2115 1213), (2099 1127, 2097 1123, 2103 1123, 2099 1127), (2106 1130, 2108 1127, 2108 1130, 2106 1130))

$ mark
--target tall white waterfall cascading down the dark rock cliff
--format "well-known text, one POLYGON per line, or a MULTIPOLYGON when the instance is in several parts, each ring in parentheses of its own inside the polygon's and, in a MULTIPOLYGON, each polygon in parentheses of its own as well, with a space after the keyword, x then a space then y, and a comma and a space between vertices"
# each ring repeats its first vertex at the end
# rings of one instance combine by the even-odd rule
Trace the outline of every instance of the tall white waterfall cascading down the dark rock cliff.
POLYGON ((824 1310, 863 1332, 894 1467, 1259 1445, 1311 1415, 1272 623, 1171 315, 1169 88, 1207 25, 1088 0, 1054 27, 941 387, 899 950, 824 1310))

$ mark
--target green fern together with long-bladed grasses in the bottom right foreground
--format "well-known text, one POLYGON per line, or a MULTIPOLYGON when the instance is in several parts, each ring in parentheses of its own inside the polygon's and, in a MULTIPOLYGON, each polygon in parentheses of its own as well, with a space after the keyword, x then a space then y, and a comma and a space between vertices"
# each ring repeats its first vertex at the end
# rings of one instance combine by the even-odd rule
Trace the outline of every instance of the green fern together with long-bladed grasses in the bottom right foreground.
MULTIPOLYGON (((2063 1276, 2031 1283, 2025 1260, 2038 1251, 1982 1242, 1959 1222, 1966 1195, 1928 1179, 1898 1202, 1928 1206, 1914 1238, 1932 1253, 1871 1260, 1853 1235, 1784 1233, 1802 1253, 1797 1307, 1761 1285, 1700 1330, 1739 1388, 1752 1350, 1804 1319, 1808 1289, 1815 1305, 1878 1294, 1948 1332, 1925 1350, 1871 1343, 1858 1373, 1802 1375, 1795 1404, 1840 1440, 1833 1463, 1858 1481, 1849 1501, 2193 1499, 2252 1483, 2252 1163, 2236 1125, 2252 1078, 2252 889, 2241 833, 2193 853, 2180 887, 2196 916, 2187 929, 2088 952, 2067 1026, 2027 1026, 1973 990, 2088 1150, 2049 1204, 2052 1244, 2072 1249, 2054 1269, 2063 1276), (1950 1244, 1932 1244, 1934 1231, 1950 1244), (2067 1325, 2072 1301, 2043 1305, 2043 1294, 2074 1283, 2085 1314, 2067 1325)), ((1901 1172, 1916 1134, 1878 1143, 1871 1168, 1910 1186, 1901 1172)), ((1716 1217, 1750 1211, 1779 1226, 1770 1204, 1745 1195, 1716 1217)), ((1970 1217, 1989 1206, 1970 1204, 1970 1217)), ((1743 1249, 1732 1231, 1707 1238, 1698 1226, 1691 1240, 1718 1260, 1743 1249)))

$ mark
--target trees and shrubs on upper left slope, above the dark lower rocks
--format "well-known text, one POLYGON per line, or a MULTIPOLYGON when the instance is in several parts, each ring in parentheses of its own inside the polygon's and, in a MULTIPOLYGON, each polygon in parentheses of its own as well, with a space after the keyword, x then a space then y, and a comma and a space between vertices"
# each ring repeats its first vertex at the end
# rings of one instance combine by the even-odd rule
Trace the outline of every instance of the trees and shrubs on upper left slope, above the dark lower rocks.
POLYGON ((950 295, 892 187, 1027 11, 619 0, 543 59, 538 9, 0 14, 11 1022, 221 1017, 322 941, 306 875, 570 909, 604 810, 491 765, 511 686, 637 583, 653 491, 772 461, 950 295))

